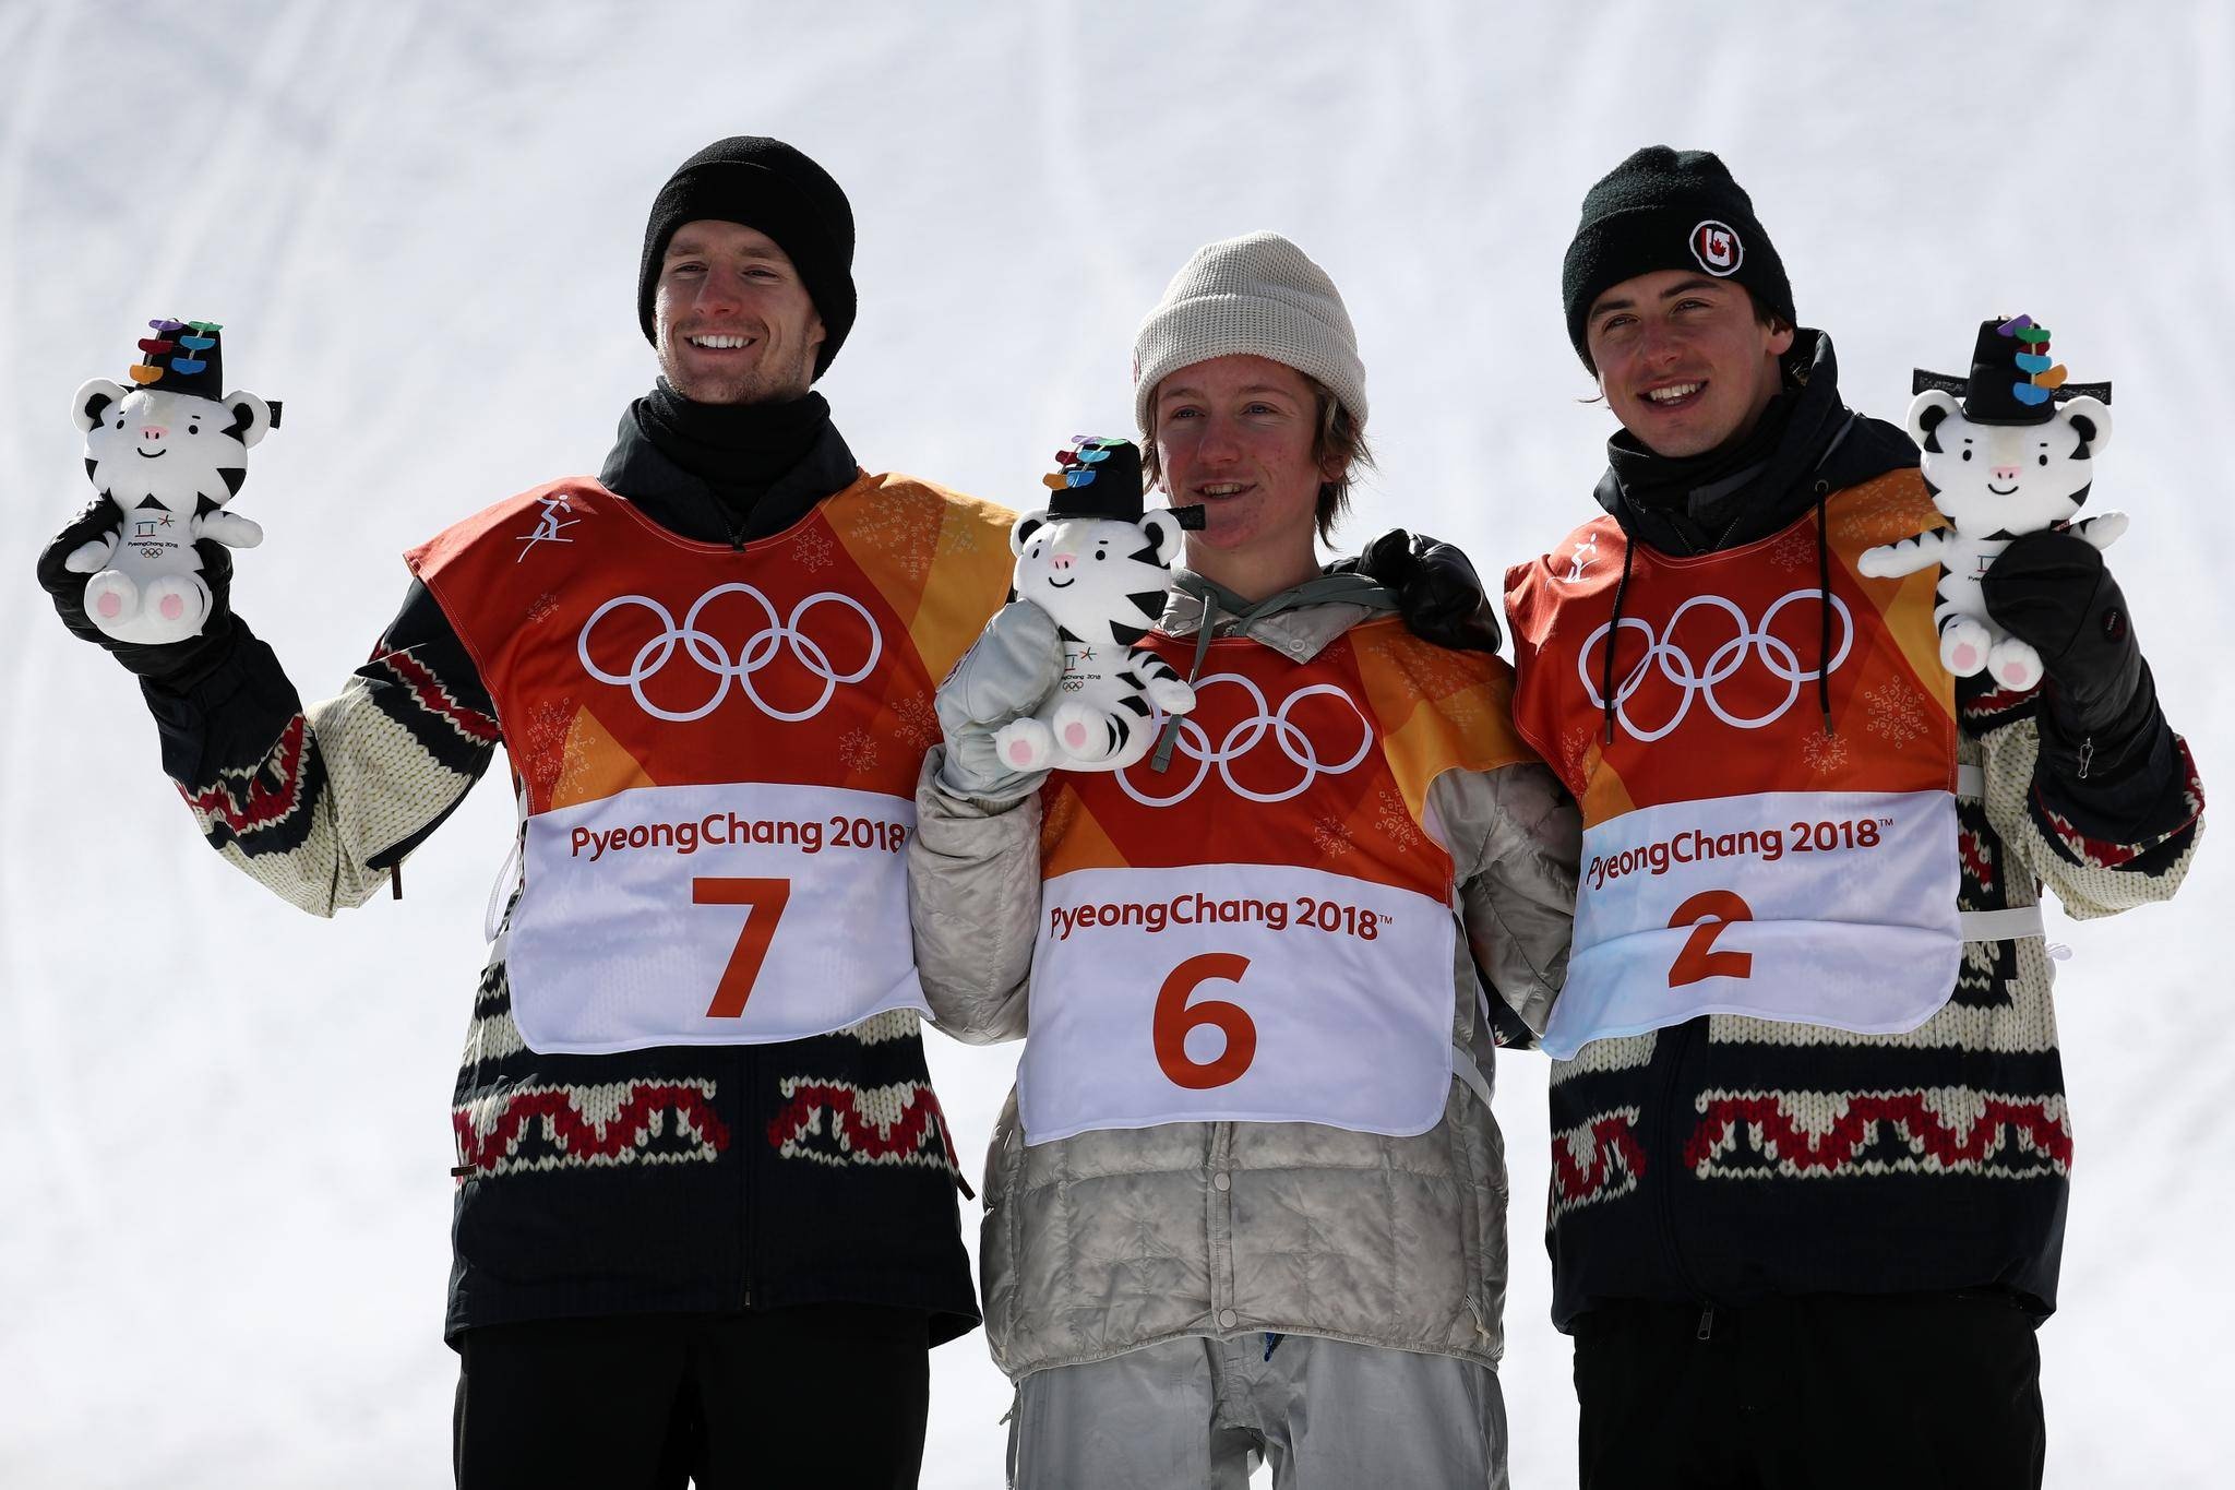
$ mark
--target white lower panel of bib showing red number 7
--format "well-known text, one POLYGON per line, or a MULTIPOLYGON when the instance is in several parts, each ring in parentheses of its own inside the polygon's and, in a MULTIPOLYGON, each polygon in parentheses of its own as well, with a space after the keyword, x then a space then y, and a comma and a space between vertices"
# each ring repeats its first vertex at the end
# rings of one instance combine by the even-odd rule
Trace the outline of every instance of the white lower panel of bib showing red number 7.
POLYGON ((637 786, 527 820, 512 1016, 530 1050, 760 1045, 928 1010, 916 804, 843 786, 637 786))

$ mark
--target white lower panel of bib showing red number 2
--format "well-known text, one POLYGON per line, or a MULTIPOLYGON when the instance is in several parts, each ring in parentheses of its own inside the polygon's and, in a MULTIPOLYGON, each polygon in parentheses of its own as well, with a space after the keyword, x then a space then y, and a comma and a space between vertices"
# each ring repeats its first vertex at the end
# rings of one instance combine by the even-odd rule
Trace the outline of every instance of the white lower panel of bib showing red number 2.
POLYGON ((1956 797, 1757 793, 1582 833, 1576 952, 1544 1052, 1696 1014, 1913 1030, 1962 958, 1956 797))

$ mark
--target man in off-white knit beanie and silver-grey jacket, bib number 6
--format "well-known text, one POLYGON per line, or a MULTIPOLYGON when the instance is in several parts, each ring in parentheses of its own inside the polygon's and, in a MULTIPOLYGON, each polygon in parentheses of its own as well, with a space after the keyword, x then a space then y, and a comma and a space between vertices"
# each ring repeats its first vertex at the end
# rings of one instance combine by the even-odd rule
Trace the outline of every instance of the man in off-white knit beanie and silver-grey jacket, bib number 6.
POLYGON ((1303 250, 1196 252, 1140 326, 1135 413, 1205 512, 1142 641, 1193 713, 1120 773, 957 782, 1059 677, 1010 605, 939 690, 910 842, 941 1028, 1026 1041, 981 1247, 1012 1486, 1240 1490, 1258 1459, 1276 1490, 1504 1486, 1493 1021, 1558 990, 1576 811, 1511 730, 1495 630, 1464 637, 1480 590, 1459 641, 1421 634, 1464 558, 1395 534, 1388 585, 1314 556, 1366 366, 1303 250))

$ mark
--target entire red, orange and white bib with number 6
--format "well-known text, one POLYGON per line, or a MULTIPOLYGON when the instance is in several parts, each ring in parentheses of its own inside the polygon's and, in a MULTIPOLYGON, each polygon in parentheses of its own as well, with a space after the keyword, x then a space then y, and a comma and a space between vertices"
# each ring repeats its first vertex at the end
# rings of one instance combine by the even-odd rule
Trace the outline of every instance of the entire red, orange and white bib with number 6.
MULTIPOLYGON (((1173 668, 1193 641, 1147 641, 1173 668)), ((1529 760, 1495 657, 1395 619, 1296 663, 1214 641, 1169 766, 1044 793, 1028 1144, 1171 1121, 1426 1133, 1453 1074, 1444 771, 1529 760)))

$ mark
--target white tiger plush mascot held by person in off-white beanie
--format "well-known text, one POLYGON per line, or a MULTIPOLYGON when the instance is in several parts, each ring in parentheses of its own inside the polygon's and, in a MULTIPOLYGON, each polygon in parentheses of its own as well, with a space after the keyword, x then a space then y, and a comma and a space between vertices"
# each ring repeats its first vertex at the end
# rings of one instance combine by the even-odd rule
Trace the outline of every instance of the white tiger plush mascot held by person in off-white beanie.
POLYGON ((1064 679, 1039 710, 995 730, 1012 771, 1122 771, 1155 744, 1153 710, 1185 715, 1196 690, 1140 646, 1164 612, 1171 561, 1200 509, 1142 512, 1140 449, 1075 442, 1048 476, 1055 505, 1017 518, 1008 547, 1019 601, 1064 634, 1064 679))

